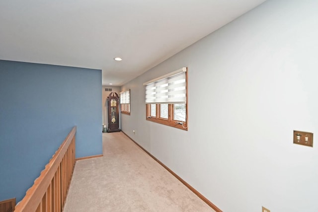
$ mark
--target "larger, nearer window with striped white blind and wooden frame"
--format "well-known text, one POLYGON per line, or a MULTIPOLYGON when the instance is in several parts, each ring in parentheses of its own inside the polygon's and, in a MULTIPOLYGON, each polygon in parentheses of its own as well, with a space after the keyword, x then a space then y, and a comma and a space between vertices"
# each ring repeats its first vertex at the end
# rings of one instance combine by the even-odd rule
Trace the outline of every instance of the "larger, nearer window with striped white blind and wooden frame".
POLYGON ((146 120, 182 130, 187 123, 187 69, 166 74, 146 85, 146 120))

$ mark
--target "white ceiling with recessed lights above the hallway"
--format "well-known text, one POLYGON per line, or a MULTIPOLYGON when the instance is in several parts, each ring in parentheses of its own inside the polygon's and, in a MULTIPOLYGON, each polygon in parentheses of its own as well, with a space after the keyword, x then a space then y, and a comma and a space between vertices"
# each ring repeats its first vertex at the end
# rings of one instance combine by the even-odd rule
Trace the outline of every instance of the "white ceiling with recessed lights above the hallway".
POLYGON ((0 0, 0 60, 101 69, 120 86, 264 1, 0 0))

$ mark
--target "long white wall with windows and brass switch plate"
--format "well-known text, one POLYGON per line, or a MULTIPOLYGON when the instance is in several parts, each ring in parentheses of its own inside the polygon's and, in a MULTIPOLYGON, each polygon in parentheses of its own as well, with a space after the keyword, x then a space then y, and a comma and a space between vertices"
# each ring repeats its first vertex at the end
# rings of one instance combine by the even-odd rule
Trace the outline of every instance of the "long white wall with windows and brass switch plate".
POLYGON ((124 85, 122 130, 224 212, 317 212, 317 57, 318 1, 267 0, 124 85), (184 66, 189 131, 146 121, 143 82, 184 66))

